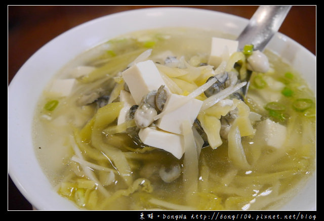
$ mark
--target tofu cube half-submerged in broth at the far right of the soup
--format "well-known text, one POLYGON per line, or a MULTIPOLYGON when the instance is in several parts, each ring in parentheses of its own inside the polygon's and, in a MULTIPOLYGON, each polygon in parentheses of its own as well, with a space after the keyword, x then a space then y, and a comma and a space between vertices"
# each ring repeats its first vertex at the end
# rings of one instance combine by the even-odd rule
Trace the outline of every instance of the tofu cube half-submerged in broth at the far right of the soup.
POLYGON ((286 141, 287 128, 266 119, 258 123, 255 138, 258 144, 279 149, 286 141))

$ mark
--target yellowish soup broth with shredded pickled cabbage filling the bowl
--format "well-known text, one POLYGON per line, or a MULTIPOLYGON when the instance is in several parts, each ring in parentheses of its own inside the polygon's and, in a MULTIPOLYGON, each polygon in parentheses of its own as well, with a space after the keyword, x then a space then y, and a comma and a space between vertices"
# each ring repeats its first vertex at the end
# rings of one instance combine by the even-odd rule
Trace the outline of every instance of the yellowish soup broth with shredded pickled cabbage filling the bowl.
POLYGON ((138 31, 85 52, 55 75, 39 98, 33 131, 35 153, 58 194, 89 210, 265 210, 279 208, 303 187, 315 171, 313 92, 298 70, 270 51, 264 73, 249 70, 243 52, 221 63, 226 71, 210 65, 213 37, 234 39, 200 29, 138 31), (126 106, 122 94, 132 85, 123 73, 148 60, 168 98, 188 97, 225 72, 240 78, 250 71, 249 93, 242 99, 233 96, 241 87, 233 89, 210 106, 204 103, 209 96, 196 94, 203 108, 194 122, 183 122, 180 135, 166 134, 182 139, 179 156, 139 136, 146 128, 160 132, 156 117, 163 114, 145 128, 134 119, 118 122, 126 106))

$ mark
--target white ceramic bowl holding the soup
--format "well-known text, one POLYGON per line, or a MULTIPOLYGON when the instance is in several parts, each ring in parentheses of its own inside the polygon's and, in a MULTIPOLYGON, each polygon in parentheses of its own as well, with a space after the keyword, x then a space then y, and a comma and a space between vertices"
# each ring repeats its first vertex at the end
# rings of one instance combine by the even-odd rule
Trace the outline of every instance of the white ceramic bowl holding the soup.
MULTIPOLYGON (((116 35, 165 26, 214 28, 238 35, 248 20, 191 8, 150 8, 101 17, 61 34, 38 50, 18 71, 8 90, 8 172, 25 198, 39 210, 75 210, 59 196, 39 167, 32 146, 34 108, 44 85, 68 61, 116 35), (188 18, 191 18, 190 20, 188 18), (132 21, 132 24, 130 24, 132 21)), ((287 59, 316 90, 316 58, 277 33, 268 48, 287 59)), ((315 176, 284 210, 315 210, 315 176)))

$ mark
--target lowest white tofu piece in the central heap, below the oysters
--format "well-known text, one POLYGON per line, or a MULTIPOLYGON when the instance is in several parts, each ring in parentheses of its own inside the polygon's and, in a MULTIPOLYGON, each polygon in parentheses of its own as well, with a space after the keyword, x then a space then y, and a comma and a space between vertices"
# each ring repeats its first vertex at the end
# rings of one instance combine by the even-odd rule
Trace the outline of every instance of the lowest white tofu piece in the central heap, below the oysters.
POLYGON ((145 145, 165 150, 178 159, 184 154, 182 135, 172 134, 154 127, 140 129, 138 135, 145 145))

